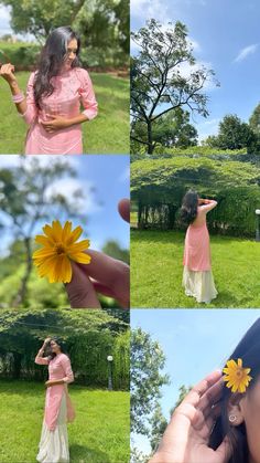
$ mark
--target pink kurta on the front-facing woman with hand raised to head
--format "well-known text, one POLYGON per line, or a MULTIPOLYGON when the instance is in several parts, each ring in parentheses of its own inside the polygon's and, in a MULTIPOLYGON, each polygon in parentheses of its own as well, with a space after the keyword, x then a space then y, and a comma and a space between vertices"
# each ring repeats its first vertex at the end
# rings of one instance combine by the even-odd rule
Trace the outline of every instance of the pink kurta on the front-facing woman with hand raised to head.
POLYGON ((51 386, 46 391, 44 420, 50 431, 54 431, 64 393, 67 402, 67 421, 73 421, 75 418, 75 411, 67 392, 67 383, 74 381, 71 360, 65 354, 58 354, 52 360, 46 357, 36 357, 35 362, 48 365, 50 380, 63 379, 65 381, 64 385, 51 386))

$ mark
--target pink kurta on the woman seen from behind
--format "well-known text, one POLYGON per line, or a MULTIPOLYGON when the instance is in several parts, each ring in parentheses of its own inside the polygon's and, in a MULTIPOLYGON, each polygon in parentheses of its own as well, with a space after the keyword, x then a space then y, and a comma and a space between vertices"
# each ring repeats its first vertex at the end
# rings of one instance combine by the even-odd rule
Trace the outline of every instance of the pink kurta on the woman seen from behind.
POLYGON ((212 269, 209 234, 206 221, 188 227, 185 238, 183 265, 191 271, 205 272, 212 269))

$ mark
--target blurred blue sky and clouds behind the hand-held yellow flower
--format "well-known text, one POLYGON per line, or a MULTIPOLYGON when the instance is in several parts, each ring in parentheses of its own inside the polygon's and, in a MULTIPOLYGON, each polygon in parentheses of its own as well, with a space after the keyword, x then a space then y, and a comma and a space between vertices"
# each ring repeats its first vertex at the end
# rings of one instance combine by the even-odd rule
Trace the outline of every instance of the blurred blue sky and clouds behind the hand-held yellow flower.
MULTIPOLYGON (((80 224, 90 239, 91 248, 100 250, 108 240, 116 240, 122 248, 129 248, 129 225, 118 213, 118 201, 129 198, 129 156, 56 156, 61 161, 66 161, 76 169, 77 177, 65 177, 48 187, 48 193, 62 192, 69 198, 80 188, 84 200, 80 201, 80 210, 87 215, 86 223, 80 224), (95 189, 95 191, 94 191, 95 189)), ((0 156, 0 169, 17 167, 20 162, 17 155, 0 156)), ((48 164, 48 156, 37 157, 41 164, 48 164)), ((52 157, 53 158, 53 157, 52 157)), ((25 159, 30 166, 31 157, 25 159)), ((58 219, 55 217, 53 219, 58 219)), ((69 219, 66 218, 66 219, 69 219)), ((24 228, 26 224, 24 224, 24 228)), ((41 227, 35 234, 41 232, 41 227)), ((1 236, 0 252, 4 253, 12 233, 1 236)))

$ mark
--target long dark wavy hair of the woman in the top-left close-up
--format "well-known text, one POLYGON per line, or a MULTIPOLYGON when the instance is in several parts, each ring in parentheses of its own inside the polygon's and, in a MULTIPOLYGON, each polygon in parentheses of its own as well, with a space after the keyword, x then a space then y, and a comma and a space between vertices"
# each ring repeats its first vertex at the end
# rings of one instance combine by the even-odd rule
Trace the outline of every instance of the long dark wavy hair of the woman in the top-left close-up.
POLYGON ((69 27, 62 27, 54 29, 48 35, 45 45, 42 49, 35 81, 33 84, 34 99, 36 106, 40 108, 41 98, 43 96, 51 96, 54 92, 54 86, 51 83, 52 77, 55 77, 61 72, 64 64, 64 57, 67 51, 67 44, 71 40, 77 41, 77 56, 72 63, 72 67, 79 66, 79 51, 80 39, 69 27))

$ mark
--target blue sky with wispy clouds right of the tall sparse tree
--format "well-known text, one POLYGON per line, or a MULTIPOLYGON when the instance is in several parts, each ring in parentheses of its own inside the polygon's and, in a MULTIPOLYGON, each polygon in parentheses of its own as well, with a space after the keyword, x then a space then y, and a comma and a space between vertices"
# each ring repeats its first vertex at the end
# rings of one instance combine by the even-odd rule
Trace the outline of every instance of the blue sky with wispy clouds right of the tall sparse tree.
POLYGON ((131 0, 131 29, 155 18, 180 20, 189 31, 194 55, 216 72, 220 87, 207 88, 207 119, 195 116, 199 138, 216 134, 226 114, 248 122, 260 102, 260 3, 258 0, 131 0))

